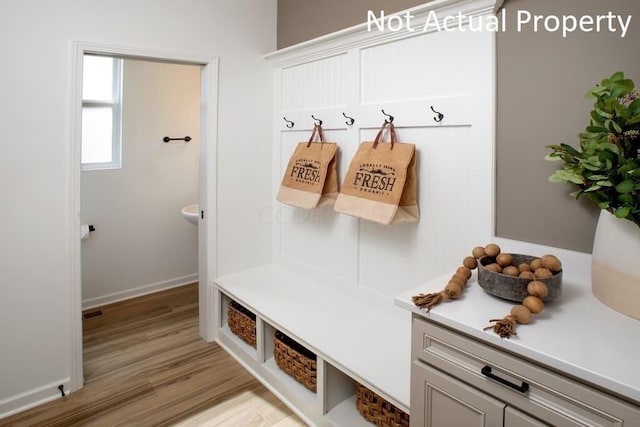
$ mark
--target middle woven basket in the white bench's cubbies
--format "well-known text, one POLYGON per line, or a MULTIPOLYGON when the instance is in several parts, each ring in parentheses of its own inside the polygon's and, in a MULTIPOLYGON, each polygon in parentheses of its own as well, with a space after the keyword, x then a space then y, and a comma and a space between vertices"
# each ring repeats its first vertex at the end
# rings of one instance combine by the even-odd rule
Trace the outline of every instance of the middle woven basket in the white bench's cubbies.
POLYGON ((273 355, 278 367, 315 393, 317 389, 316 355, 280 331, 276 331, 273 342, 273 355))

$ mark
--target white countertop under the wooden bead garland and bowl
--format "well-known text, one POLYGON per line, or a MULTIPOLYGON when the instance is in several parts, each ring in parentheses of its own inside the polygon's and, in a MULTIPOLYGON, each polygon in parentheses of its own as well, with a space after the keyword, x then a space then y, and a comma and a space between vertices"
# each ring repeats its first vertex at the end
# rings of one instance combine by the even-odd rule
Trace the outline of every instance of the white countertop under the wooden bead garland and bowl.
POLYGON ((640 403, 640 320, 602 304, 589 283, 563 278, 562 295, 545 303, 531 323, 517 325, 517 336, 503 339, 483 328, 491 325, 489 319, 509 314, 516 303, 484 292, 475 271, 460 299, 428 313, 413 304, 413 295, 441 291, 452 273, 398 295, 395 304, 640 403))

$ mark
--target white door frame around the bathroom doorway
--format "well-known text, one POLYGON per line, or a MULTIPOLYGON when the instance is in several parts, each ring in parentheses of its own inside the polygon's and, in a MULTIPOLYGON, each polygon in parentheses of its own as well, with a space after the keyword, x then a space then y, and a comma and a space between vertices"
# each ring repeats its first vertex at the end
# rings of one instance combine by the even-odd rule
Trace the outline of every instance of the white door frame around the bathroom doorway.
POLYGON ((82 140, 82 58, 87 53, 120 58, 161 61, 167 63, 201 66, 200 71, 200 154, 198 203, 201 215, 198 220, 198 300, 200 336, 206 341, 216 338, 216 298, 213 280, 216 277, 216 165, 218 136, 218 78, 219 58, 198 54, 164 52, 144 48, 113 46, 101 43, 72 43, 70 150, 69 150, 69 391, 84 385, 82 352, 82 272, 80 242, 80 185, 82 140))

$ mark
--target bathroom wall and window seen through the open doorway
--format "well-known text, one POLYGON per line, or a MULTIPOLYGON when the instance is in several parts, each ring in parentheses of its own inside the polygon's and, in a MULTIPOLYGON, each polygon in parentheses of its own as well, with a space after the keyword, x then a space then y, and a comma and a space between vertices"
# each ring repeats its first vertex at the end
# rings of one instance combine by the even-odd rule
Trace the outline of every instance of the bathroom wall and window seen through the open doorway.
POLYGON ((84 59, 83 310, 198 280, 200 68, 84 59))

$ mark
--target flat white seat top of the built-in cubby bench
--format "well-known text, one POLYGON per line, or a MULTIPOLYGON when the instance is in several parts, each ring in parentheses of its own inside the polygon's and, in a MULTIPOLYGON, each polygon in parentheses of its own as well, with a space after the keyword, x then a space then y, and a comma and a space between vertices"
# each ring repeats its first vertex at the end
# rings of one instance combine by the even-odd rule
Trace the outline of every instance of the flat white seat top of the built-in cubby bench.
POLYGON ((409 411, 411 316, 393 301, 364 302, 278 265, 216 283, 262 321, 409 411))

